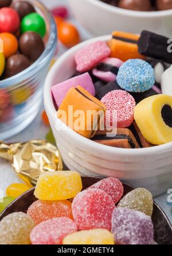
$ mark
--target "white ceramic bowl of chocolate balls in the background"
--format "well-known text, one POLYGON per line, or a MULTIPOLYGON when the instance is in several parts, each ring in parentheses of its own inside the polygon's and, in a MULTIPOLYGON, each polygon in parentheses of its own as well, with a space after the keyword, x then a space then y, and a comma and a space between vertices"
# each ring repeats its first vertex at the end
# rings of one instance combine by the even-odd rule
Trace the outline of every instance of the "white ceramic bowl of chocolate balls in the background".
POLYGON ((172 35, 172 10, 138 12, 108 5, 99 0, 68 0, 73 14, 93 35, 114 30, 140 33, 143 29, 172 35))

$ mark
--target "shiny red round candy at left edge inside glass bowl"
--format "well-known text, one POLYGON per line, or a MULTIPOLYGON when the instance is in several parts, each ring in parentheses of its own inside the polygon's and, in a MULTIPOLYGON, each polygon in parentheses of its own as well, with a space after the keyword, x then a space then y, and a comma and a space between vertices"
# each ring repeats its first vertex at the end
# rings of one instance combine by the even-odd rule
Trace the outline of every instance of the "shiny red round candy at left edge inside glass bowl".
POLYGON ((10 7, 0 9, 0 32, 14 33, 19 28, 19 14, 10 7))

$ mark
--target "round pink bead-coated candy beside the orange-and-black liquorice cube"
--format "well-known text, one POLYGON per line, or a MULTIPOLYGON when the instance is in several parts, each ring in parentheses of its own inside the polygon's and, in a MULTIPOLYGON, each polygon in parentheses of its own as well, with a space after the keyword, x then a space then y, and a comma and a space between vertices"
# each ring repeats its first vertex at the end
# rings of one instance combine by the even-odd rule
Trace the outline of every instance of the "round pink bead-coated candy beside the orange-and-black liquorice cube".
POLYGON ((118 128, 126 128, 134 121, 134 108, 136 103, 130 93, 122 90, 108 92, 101 99, 101 102, 103 102, 107 108, 106 118, 108 118, 111 125, 117 122, 118 128), (113 115, 113 111, 116 111, 116 116, 113 115))

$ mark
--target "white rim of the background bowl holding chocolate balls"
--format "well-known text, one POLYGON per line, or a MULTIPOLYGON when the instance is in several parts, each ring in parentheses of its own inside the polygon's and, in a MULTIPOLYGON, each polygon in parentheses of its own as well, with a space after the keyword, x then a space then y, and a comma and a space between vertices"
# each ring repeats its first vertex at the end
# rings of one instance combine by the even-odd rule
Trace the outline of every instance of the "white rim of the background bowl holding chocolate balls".
POLYGON ((101 7, 102 9, 106 9, 108 12, 112 13, 120 13, 123 15, 128 15, 128 16, 135 16, 135 17, 162 17, 162 16, 171 16, 172 14, 172 9, 169 10, 161 10, 161 11, 150 11, 150 12, 143 12, 143 11, 136 11, 136 10, 127 10, 127 9, 122 9, 117 6, 112 6, 109 3, 101 2, 100 0, 85 0, 88 2, 91 2, 93 5, 96 5, 98 7, 101 7))

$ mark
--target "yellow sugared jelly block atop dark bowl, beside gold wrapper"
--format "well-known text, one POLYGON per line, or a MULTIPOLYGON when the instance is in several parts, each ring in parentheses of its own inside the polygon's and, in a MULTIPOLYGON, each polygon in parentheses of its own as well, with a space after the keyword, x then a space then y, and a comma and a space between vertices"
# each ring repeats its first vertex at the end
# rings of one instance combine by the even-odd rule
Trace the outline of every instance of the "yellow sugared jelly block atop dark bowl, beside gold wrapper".
POLYGON ((75 197, 82 188, 77 172, 46 172, 39 176, 34 195, 41 200, 64 200, 75 197))

